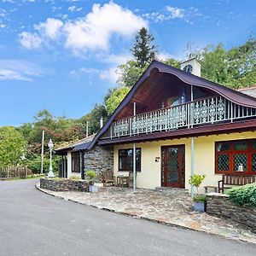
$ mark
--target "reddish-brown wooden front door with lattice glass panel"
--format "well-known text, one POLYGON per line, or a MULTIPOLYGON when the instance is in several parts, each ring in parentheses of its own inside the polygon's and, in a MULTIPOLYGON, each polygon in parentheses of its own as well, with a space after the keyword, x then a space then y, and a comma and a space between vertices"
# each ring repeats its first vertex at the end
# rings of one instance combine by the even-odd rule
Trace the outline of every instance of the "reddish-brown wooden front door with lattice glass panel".
POLYGON ((161 186, 185 188, 185 145, 161 148, 161 186))

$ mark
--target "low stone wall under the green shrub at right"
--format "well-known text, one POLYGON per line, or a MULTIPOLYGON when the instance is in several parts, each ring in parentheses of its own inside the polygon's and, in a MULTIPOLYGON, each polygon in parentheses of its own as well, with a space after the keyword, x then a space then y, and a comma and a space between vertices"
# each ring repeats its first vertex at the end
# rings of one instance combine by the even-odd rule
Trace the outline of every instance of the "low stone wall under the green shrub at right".
POLYGON ((256 207, 236 206, 228 195, 207 194, 207 213, 219 218, 230 218, 256 233, 256 207))

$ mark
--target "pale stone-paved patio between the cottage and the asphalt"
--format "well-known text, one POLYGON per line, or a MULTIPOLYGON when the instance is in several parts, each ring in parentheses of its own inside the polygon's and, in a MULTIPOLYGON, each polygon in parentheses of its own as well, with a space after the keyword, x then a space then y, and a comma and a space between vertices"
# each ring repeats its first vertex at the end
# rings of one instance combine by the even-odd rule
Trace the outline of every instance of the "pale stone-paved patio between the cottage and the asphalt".
MULTIPOLYGON (((39 184, 37 188, 40 189, 39 184)), ((205 212, 194 212, 193 202, 183 193, 177 196, 177 192, 153 189, 137 189, 134 193, 130 188, 116 187, 99 188, 98 193, 40 190, 65 200, 130 215, 133 218, 143 218, 256 244, 256 234, 242 228, 236 222, 213 217, 205 212)))

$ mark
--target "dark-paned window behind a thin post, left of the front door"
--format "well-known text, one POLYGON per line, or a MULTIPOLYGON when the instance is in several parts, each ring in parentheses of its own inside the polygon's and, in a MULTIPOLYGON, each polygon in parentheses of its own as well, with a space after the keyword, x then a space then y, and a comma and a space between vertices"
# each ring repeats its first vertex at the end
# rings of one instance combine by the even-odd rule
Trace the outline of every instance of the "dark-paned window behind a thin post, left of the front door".
MULTIPOLYGON (((119 171, 133 170, 133 149, 119 150, 119 171)), ((136 171, 141 172, 141 148, 136 148, 136 171)))

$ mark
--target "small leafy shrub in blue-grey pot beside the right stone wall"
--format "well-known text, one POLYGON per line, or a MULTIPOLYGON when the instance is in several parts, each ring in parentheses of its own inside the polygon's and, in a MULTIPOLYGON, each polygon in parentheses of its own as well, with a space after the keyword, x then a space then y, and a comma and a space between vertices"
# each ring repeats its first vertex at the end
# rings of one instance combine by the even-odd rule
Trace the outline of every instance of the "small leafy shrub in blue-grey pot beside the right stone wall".
POLYGON ((189 184, 196 188, 196 195, 193 197, 194 209, 196 212, 205 212, 206 196, 199 195, 198 188, 206 175, 194 174, 189 178, 189 184))

